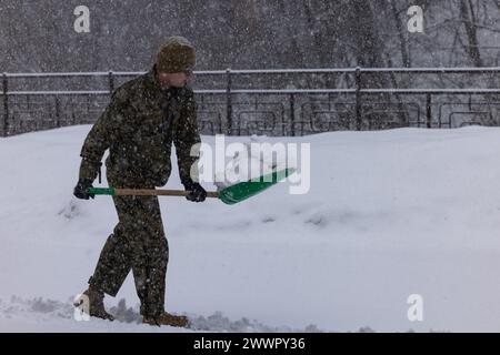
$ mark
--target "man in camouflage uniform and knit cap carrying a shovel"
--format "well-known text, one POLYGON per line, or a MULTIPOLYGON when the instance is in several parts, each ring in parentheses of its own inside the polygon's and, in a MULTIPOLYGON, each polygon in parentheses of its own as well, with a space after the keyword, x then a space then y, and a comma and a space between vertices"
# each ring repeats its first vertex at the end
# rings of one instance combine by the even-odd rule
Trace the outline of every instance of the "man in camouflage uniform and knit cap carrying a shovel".
MULTIPOLYGON (((193 91, 186 82, 196 63, 191 43, 171 37, 160 47, 153 68, 118 88, 104 113, 89 132, 81 150, 79 182, 74 195, 94 197, 92 187, 106 161, 107 178, 116 187, 154 189, 169 179, 171 143, 176 145, 180 179, 187 199, 202 202, 204 189, 191 176, 191 146, 199 143, 193 91)), ((169 247, 158 197, 113 195, 119 223, 108 237, 89 288, 83 293, 92 316, 112 320, 104 310, 104 294, 116 296, 132 270, 143 322, 151 325, 186 326, 188 318, 164 311, 169 247)))

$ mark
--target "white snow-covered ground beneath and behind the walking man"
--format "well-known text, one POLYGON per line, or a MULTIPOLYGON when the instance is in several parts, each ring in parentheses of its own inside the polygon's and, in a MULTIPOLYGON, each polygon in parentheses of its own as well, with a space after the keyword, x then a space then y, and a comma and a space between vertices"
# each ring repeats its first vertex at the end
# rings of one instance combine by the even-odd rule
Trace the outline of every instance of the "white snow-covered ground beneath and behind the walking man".
MULTIPOLYGON (((72 197, 89 129, 0 139, 0 331, 183 331, 138 324, 130 275, 106 301, 120 322, 72 317, 117 222, 110 197, 72 197)), ((284 140, 311 143, 308 194, 160 197, 169 312, 199 331, 500 331, 500 129, 284 140)))

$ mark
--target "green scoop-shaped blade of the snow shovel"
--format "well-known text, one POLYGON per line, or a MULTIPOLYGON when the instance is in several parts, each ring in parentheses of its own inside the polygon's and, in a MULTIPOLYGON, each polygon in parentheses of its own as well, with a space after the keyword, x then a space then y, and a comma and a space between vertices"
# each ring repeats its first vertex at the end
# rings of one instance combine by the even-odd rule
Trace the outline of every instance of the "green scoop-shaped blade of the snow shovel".
POLYGON ((234 204, 244 201, 253 195, 257 195, 258 193, 261 193, 266 189, 269 189, 279 181, 293 174, 294 172, 296 169, 287 168, 262 175, 260 178, 252 179, 250 181, 240 182, 234 185, 224 187, 219 191, 219 200, 221 200, 226 204, 234 204))

